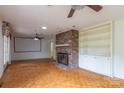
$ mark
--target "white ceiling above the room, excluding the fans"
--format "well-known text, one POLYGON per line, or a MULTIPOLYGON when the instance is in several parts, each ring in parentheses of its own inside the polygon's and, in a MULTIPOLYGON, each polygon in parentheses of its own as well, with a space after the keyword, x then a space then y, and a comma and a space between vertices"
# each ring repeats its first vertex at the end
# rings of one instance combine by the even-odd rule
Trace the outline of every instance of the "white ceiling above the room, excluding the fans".
POLYGON ((103 6, 100 12, 85 7, 76 10, 72 18, 67 18, 71 6, 65 5, 17 5, 0 6, 0 16, 3 20, 12 24, 14 32, 18 34, 33 35, 55 34, 59 31, 66 31, 92 26, 108 20, 116 20, 124 17, 124 6, 109 5, 103 6), (47 30, 40 27, 47 26, 47 30))

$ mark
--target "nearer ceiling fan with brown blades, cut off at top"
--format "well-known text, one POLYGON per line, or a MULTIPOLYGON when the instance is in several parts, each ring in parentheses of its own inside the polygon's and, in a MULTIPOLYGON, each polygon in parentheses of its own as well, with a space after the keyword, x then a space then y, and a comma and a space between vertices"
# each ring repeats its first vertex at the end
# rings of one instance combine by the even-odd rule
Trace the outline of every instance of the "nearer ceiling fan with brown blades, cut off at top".
POLYGON ((83 9, 85 6, 88 6, 89 8, 93 9, 96 12, 99 12, 103 7, 100 5, 72 5, 71 10, 68 14, 68 18, 72 17, 75 10, 83 9))

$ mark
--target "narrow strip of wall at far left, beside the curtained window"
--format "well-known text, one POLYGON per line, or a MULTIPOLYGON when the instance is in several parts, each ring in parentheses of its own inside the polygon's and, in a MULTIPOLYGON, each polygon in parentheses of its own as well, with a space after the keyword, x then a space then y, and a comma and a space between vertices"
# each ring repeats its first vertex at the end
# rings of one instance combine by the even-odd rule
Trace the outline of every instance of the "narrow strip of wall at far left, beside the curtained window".
POLYGON ((0 22, 0 78, 4 71, 4 55, 3 55, 3 36, 2 36, 2 23, 0 22))

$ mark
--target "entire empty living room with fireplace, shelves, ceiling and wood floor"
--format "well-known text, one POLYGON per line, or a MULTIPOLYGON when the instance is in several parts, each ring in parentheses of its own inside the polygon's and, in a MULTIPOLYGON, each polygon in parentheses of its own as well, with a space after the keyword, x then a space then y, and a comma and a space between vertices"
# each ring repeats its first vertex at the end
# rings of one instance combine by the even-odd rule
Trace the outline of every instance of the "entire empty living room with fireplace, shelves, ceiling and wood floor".
POLYGON ((124 6, 0 6, 2 88, 124 87, 124 6))

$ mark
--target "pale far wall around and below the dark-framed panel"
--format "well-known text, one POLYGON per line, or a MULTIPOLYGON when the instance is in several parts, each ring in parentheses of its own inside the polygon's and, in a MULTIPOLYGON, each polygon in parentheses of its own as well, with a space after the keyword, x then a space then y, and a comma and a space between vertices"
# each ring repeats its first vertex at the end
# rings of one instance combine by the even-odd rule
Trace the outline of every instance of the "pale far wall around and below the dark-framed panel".
POLYGON ((50 58, 50 42, 51 39, 42 39, 41 41, 41 52, 24 52, 14 53, 14 43, 12 40, 12 60, 25 60, 25 59, 39 59, 39 58, 50 58))

